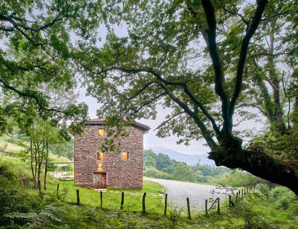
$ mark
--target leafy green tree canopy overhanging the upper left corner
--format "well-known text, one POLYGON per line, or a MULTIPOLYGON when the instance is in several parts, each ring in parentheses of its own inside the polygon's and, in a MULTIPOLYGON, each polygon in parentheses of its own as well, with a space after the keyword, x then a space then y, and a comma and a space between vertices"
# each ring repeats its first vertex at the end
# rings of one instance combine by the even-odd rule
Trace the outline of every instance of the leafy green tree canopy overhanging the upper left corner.
POLYGON ((71 94, 77 86, 71 63, 71 33, 91 39, 99 5, 92 1, 5 0, 0 7, 0 133, 10 131, 7 120, 33 106, 43 118, 71 120, 79 131, 86 119, 84 103, 51 103, 43 90, 71 94), (90 33, 89 33, 90 32, 90 33))

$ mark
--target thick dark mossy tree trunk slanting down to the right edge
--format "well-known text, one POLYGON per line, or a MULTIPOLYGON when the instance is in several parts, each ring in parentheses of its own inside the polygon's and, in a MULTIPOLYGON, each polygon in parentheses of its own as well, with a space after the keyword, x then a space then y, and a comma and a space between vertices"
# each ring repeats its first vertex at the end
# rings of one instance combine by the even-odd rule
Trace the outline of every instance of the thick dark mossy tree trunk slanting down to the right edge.
POLYGON ((209 153, 208 158, 214 160, 217 166, 241 168, 272 183, 286 186, 298 196, 297 163, 285 164, 264 152, 241 150, 239 148, 221 152, 212 151, 209 153))

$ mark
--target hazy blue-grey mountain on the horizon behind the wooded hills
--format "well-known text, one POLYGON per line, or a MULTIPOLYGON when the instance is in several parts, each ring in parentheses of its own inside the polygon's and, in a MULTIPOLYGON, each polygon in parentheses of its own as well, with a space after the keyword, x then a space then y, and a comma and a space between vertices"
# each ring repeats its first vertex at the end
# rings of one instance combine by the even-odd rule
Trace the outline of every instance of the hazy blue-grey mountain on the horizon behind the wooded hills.
POLYGON ((153 146, 153 147, 150 147, 150 149, 156 154, 163 153, 168 155, 171 159, 174 159, 178 162, 185 162, 186 164, 189 164, 189 165, 194 165, 199 161, 200 164, 208 164, 208 165, 215 166, 214 161, 209 160, 207 158, 208 154, 201 154, 201 155, 183 154, 163 146, 153 146))

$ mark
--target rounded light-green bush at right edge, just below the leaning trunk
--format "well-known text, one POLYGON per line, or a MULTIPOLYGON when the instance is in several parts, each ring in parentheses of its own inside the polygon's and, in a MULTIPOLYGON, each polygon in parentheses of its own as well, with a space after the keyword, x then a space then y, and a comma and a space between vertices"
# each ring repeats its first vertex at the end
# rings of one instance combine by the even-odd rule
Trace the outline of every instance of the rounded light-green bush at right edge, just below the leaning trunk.
POLYGON ((277 186, 271 189, 269 193, 269 198, 270 200, 275 201, 277 207, 280 209, 288 209, 290 203, 298 200, 295 193, 283 186, 277 186))

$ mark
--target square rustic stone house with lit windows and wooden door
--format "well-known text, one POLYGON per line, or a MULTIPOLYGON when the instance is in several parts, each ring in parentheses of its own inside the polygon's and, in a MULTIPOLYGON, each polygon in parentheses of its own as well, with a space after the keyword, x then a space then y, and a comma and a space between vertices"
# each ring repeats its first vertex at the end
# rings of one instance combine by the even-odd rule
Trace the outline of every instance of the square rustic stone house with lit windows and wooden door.
POLYGON ((143 134, 150 127, 135 122, 127 127, 130 135, 120 137, 120 151, 101 152, 105 130, 104 119, 91 119, 83 133, 74 137, 74 182, 77 186, 142 189, 143 134))

